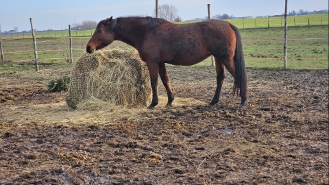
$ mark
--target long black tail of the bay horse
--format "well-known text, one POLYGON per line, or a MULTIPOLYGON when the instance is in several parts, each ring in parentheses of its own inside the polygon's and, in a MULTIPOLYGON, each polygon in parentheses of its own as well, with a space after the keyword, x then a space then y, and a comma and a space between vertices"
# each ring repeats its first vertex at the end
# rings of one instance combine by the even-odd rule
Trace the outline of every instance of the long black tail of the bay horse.
POLYGON ((242 47, 242 40, 239 29, 234 25, 230 25, 231 28, 235 32, 236 36, 236 49, 234 53, 234 64, 236 68, 236 76, 238 78, 238 82, 234 82, 234 95, 239 95, 240 90, 240 97, 247 98, 248 96, 248 79, 247 79, 247 69, 245 69, 245 58, 243 57, 243 47, 242 47))

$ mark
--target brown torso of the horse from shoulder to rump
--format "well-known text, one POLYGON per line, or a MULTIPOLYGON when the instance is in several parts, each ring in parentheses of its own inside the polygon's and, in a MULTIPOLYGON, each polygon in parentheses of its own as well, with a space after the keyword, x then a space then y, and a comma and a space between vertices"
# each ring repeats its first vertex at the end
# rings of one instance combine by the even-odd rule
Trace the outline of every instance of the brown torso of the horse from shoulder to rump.
POLYGON ((160 62, 192 65, 213 53, 225 54, 231 51, 230 48, 235 45, 235 40, 231 43, 232 39, 235 39, 235 34, 227 21, 210 20, 188 24, 165 21, 150 30, 140 54, 144 61, 154 60, 156 55, 160 55, 157 57, 160 62))

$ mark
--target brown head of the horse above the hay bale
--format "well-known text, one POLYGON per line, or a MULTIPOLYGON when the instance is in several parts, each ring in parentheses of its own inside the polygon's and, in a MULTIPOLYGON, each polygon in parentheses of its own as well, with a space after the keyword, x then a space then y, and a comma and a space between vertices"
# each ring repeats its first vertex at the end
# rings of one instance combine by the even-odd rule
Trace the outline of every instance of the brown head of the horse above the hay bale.
POLYGON ((110 45, 114 40, 114 33, 111 27, 112 16, 100 21, 95 29, 93 36, 87 43, 87 53, 92 53, 95 50, 102 49, 110 45))

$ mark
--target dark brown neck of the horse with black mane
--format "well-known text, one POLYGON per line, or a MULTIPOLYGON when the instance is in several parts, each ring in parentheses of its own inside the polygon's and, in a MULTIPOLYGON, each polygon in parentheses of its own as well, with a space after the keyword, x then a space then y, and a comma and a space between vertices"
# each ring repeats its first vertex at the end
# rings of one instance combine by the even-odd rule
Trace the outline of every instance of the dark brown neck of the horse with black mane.
POLYGON ((113 31, 117 35, 115 40, 125 42, 127 45, 138 49, 141 39, 145 34, 148 21, 145 19, 121 18, 113 31))

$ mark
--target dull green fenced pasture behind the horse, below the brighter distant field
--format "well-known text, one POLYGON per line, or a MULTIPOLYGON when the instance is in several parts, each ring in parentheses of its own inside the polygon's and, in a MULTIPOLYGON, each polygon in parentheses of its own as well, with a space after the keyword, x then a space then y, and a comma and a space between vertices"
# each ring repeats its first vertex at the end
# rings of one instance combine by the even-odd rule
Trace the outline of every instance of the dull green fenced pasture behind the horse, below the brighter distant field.
MULTIPOLYGON (((241 29, 246 65, 249 68, 283 67, 282 27, 241 29)), ((73 58, 85 53, 86 42, 90 36, 73 38, 73 58)), ((313 25, 289 27, 288 32, 288 62, 289 69, 328 69, 328 25, 313 25)), ((34 53, 32 39, 2 40, 4 64, 0 73, 15 71, 21 68, 33 68, 34 53), (8 62, 11 61, 11 62, 8 62)), ((69 38, 38 38, 38 58, 40 64, 53 62, 66 65, 69 60, 69 38)), ((132 49, 123 42, 113 42, 106 49, 120 47, 132 49)), ((197 66, 209 66, 210 58, 197 66)), ((42 66, 40 67, 42 69, 42 66)))

